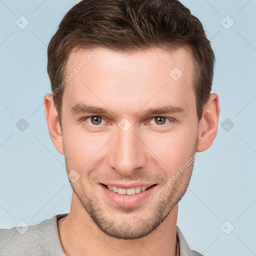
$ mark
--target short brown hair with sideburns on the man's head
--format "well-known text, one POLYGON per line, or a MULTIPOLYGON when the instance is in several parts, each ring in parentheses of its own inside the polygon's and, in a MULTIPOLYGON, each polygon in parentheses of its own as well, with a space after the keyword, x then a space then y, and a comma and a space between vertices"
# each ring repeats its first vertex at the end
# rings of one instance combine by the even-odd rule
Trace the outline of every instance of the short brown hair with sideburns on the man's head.
MULTIPOLYGON (((215 57, 201 22, 178 0, 82 0, 74 5, 48 45, 51 89, 62 83, 68 56, 76 47, 132 52, 184 45, 195 60, 193 89, 199 121, 211 91, 215 57)), ((60 124, 62 87, 53 94, 60 124)))

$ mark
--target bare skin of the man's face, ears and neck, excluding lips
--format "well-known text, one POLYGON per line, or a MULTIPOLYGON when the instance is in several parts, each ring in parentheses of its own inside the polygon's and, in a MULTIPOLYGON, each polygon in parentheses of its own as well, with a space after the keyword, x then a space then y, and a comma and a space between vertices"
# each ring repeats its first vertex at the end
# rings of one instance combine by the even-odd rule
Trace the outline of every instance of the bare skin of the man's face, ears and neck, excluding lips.
MULTIPOLYGON (((70 181, 74 191, 70 212, 57 223, 63 250, 72 256, 176 255, 178 201, 193 164, 154 202, 146 198, 134 207, 114 204, 100 183, 156 183, 150 192, 154 195, 189 157, 212 144, 218 96, 210 94, 198 123, 192 89, 194 62, 186 46, 130 54, 97 49, 99 53, 64 88, 62 128, 53 100, 47 94, 44 97, 53 144, 64 154, 67 172, 74 169, 80 175, 74 183, 70 181), (169 75, 174 67, 183 73, 178 80, 169 75), (81 104, 105 108, 110 114, 71 111, 81 104), (183 111, 145 115, 148 108, 166 105, 183 111), (102 117, 99 124, 86 118, 91 115, 102 117), (158 116, 166 119, 157 121, 158 116), (126 131, 118 126, 123 118, 131 125, 126 131)), ((92 51, 74 49, 66 73, 92 51)))

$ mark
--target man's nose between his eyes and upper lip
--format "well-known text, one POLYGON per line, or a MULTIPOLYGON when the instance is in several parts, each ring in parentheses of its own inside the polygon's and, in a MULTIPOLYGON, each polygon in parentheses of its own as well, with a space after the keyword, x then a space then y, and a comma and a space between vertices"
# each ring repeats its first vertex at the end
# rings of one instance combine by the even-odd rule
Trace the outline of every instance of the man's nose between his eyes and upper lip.
POLYGON ((136 169, 145 167, 148 153, 138 133, 132 125, 126 131, 116 127, 116 135, 111 139, 108 163, 122 175, 133 175, 136 169))

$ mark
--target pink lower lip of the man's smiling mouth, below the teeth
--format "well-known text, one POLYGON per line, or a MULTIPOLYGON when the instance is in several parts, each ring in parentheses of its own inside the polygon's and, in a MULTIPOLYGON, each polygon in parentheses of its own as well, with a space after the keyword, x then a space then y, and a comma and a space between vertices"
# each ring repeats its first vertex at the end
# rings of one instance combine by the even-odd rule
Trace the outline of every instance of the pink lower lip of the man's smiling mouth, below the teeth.
POLYGON ((118 194, 106 188, 104 185, 100 184, 105 192, 106 196, 116 205, 122 207, 134 207, 145 198, 148 198, 152 190, 156 185, 150 186, 148 189, 141 191, 137 194, 118 194))

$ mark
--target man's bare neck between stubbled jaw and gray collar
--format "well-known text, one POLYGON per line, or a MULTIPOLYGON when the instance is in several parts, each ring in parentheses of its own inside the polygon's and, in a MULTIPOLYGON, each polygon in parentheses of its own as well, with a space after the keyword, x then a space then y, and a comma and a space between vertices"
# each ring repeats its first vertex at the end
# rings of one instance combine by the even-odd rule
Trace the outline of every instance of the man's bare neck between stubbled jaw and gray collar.
POLYGON ((57 223, 59 239, 68 256, 175 256, 177 210, 176 204, 161 224, 144 237, 117 239, 101 231, 73 194, 70 212, 57 223))

